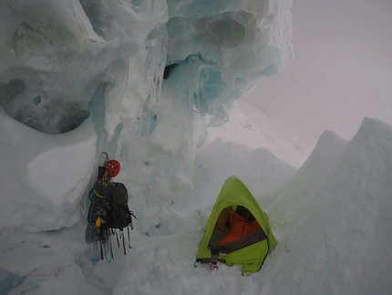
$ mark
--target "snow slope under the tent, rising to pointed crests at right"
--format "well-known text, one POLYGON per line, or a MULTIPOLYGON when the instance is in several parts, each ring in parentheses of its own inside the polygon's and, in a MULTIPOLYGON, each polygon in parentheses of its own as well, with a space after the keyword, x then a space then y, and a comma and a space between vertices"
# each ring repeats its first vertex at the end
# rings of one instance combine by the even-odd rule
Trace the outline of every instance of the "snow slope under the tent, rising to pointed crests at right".
MULTIPOLYGON (((136 239, 114 293, 390 294, 391 161, 392 126, 386 123, 366 118, 348 143, 325 132, 268 205, 279 244, 258 273, 194 269, 206 220, 190 212, 178 233, 136 239)), ((262 207, 269 203, 258 199, 262 207)))

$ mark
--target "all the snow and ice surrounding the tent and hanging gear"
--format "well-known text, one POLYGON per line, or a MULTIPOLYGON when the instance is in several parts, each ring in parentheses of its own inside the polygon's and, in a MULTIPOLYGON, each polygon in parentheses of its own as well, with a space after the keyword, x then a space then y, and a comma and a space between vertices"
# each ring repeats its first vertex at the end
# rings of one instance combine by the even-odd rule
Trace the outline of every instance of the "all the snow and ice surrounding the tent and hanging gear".
POLYGON ((325 131, 307 157, 237 103, 293 58, 291 1, 47 4, 0 4, 1 294, 392 293, 392 126, 325 131), (137 216, 110 262, 84 237, 104 149, 137 216), (248 277, 194 267, 231 175, 278 240, 248 277))

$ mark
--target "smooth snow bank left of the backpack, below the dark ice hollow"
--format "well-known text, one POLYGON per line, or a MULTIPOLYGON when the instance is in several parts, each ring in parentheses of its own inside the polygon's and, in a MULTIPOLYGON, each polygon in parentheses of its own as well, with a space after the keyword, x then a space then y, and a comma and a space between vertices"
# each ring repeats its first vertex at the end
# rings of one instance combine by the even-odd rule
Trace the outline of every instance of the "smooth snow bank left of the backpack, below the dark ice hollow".
POLYGON ((72 132, 47 135, 0 108, 0 165, 9 167, 0 170, 0 200, 7 208, 0 228, 40 231, 78 222, 77 205, 95 164, 97 135, 91 127, 87 120, 72 132))

